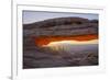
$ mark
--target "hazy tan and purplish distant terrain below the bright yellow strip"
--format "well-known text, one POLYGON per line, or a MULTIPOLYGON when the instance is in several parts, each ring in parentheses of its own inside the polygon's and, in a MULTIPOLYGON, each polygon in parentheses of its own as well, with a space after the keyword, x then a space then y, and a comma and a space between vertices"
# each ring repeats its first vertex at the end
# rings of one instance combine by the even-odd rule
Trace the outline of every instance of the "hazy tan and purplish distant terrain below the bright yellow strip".
POLYGON ((51 46, 51 47, 45 47, 50 48, 50 50, 56 50, 58 53, 68 53, 68 54, 74 54, 74 53, 81 53, 81 52, 96 52, 98 50, 98 44, 87 44, 87 45, 70 45, 70 44, 65 44, 65 45, 56 45, 56 46, 51 46))

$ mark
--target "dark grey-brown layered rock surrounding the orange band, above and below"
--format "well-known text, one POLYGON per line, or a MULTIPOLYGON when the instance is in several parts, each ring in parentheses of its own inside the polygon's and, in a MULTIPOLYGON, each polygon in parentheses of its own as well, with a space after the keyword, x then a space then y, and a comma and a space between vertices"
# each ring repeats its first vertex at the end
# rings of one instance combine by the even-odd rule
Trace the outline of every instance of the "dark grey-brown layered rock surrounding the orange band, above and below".
MULTIPOLYGON (((76 54, 52 54, 35 45, 38 36, 98 35, 98 21, 82 18, 58 18, 23 24, 23 68, 48 68, 98 65, 98 50, 76 54), (94 54, 92 54, 94 53, 94 54)), ((98 48, 97 48, 98 49, 98 48)), ((74 52, 73 52, 74 53, 74 52)))

